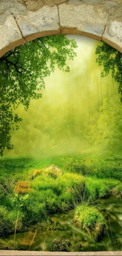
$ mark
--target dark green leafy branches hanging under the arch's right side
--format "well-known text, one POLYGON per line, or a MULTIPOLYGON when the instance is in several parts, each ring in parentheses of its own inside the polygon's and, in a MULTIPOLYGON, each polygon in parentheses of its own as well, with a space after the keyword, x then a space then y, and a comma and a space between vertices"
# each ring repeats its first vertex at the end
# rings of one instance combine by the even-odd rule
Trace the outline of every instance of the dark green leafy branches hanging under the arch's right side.
MULTIPOLYGON (((104 67, 101 77, 106 77, 110 73, 119 83, 118 93, 122 95, 122 53, 103 42, 103 45, 97 46, 96 54, 96 62, 104 67)), ((120 100, 122 102, 122 97, 120 100)))

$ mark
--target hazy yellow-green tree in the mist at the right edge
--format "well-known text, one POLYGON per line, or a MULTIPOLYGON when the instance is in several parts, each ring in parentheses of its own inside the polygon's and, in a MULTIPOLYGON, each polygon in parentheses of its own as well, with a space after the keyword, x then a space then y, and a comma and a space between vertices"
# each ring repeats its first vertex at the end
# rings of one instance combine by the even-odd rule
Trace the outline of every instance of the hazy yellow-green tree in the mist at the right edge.
POLYGON ((111 99, 104 99, 99 112, 96 112, 87 129, 87 139, 105 150, 118 152, 122 140, 122 104, 111 99))

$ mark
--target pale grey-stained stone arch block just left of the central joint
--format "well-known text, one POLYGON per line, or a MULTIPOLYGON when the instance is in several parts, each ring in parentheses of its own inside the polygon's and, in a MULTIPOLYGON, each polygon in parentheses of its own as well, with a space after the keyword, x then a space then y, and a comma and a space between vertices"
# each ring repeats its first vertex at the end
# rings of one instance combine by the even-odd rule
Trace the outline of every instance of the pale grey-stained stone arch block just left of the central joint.
POLYGON ((28 11, 25 16, 17 15, 16 21, 27 41, 46 35, 44 31, 49 31, 47 34, 60 33, 57 6, 43 6, 36 12, 28 11))

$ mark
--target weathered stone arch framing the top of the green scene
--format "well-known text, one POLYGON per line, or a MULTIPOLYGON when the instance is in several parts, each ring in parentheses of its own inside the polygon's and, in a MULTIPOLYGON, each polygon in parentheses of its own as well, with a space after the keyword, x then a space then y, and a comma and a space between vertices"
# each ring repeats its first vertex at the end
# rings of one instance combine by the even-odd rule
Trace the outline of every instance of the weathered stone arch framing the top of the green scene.
POLYGON ((0 9, 0 57, 26 41, 53 34, 88 36, 122 52, 120 0, 4 0, 0 9))

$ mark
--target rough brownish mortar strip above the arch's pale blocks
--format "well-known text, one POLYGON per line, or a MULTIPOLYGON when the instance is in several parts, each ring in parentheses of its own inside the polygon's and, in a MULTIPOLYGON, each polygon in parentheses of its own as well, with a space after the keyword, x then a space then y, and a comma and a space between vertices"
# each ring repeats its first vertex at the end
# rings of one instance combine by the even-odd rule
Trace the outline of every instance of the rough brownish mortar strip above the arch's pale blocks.
POLYGON ((99 6, 108 13, 108 20, 122 20, 122 0, 0 0, 0 24, 4 24, 8 15, 24 15, 28 10, 37 11, 44 5, 52 7, 61 3, 99 6))

